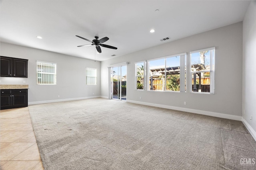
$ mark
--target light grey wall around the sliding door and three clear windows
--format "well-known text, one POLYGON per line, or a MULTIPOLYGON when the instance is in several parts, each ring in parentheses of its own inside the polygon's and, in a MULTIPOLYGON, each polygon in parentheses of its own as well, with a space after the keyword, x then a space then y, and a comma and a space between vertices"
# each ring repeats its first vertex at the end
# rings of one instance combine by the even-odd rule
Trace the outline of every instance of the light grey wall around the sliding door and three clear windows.
MULTIPOLYGON (((242 116, 242 22, 102 61, 102 96, 108 96, 107 66, 122 62, 130 62, 127 65, 128 101, 242 116), (188 65, 190 51, 208 47, 216 47, 216 94, 192 94, 190 88, 186 93, 135 90, 135 62, 186 52, 188 65)), ((190 87, 190 74, 187 76, 187 87, 190 87)))

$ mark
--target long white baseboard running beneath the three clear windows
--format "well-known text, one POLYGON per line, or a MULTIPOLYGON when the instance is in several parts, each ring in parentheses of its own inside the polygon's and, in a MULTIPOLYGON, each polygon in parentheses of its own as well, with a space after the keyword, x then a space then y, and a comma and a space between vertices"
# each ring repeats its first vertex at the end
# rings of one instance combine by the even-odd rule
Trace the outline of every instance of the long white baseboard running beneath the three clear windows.
POLYGON ((208 115, 208 116, 213 116, 213 117, 220 117, 220 118, 224 118, 224 119, 242 121, 242 116, 228 115, 228 114, 224 114, 224 113, 216 113, 216 112, 211 112, 211 111, 203 111, 203 110, 197 110, 197 109, 189 109, 189 108, 184 108, 184 107, 168 106, 168 105, 154 104, 154 103, 148 103, 148 102, 138 102, 138 101, 134 101, 134 100, 127 100, 127 102, 135 103, 135 104, 142 104, 142 105, 146 105, 146 106, 161 107, 161 108, 165 108, 165 109, 186 111, 186 112, 190 112, 190 113, 196 113, 196 114, 200 114, 200 115, 208 115))

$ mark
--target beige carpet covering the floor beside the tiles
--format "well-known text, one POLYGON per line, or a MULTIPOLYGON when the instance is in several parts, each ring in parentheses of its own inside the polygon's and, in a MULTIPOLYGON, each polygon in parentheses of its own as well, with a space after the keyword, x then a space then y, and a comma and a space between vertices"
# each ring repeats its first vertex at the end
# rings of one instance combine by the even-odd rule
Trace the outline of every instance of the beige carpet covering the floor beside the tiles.
POLYGON ((240 121, 102 98, 29 106, 45 170, 241 170, 240 121))

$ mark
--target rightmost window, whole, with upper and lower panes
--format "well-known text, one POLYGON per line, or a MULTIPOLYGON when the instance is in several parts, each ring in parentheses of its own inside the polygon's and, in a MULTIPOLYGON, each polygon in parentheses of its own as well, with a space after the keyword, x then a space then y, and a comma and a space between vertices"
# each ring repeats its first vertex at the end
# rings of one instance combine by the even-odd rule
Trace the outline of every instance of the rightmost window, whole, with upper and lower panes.
POLYGON ((190 92, 214 94, 215 47, 190 52, 190 92))

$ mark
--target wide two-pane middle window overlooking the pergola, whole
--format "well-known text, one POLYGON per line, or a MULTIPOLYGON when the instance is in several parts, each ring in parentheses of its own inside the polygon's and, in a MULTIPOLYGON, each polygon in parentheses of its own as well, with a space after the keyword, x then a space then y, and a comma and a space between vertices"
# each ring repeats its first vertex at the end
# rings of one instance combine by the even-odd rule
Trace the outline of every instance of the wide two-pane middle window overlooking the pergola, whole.
POLYGON ((186 92, 186 53, 148 61, 148 90, 186 92))

